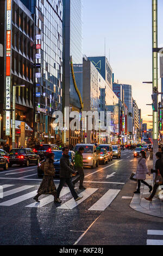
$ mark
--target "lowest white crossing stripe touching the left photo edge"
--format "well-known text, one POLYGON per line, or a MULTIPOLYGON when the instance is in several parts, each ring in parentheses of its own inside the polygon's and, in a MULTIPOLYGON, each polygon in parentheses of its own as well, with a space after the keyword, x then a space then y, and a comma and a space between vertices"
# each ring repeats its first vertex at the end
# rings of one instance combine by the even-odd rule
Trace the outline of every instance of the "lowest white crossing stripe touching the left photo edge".
POLYGON ((37 193, 37 190, 32 191, 32 192, 27 193, 27 194, 23 194, 23 196, 12 198, 12 199, 7 200, 3 203, 0 203, 0 206, 11 206, 11 205, 14 205, 14 204, 21 203, 21 202, 23 202, 23 201, 25 201, 29 198, 32 198, 32 197, 36 196, 36 193, 37 193))

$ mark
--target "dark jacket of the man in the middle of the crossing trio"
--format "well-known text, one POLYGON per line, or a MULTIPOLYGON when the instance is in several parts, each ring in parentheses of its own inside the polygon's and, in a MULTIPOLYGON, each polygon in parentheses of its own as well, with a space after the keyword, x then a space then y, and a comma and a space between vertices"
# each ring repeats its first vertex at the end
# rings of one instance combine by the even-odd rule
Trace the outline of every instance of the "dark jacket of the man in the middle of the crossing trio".
POLYGON ((70 156, 69 155, 62 155, 61 159, 60 159, 60 173, 59 176, 60 178, 65 178, 68 179, 71 177, 72 173, 76 173, 74 172, 74 170, 72 170, 70 168, 70 156))

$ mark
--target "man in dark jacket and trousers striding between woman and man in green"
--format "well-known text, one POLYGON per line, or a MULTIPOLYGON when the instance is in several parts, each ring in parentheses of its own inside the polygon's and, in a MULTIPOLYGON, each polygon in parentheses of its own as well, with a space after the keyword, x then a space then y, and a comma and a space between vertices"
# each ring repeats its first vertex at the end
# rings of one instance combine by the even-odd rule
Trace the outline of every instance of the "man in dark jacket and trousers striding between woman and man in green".
POLYGON ((74 170, 70 168, 70 156, 68 155, 68 148, 64 147, 62 149, 63 155, 60 159, 60 183, 57 189, 57 198, 59 198, 60 192, 62 190, 62 187, 65 185, 65 183, 70 188, 71 194, 75 201, 78 201, 82 199, 83 197, 78 197, 76 191, 74 190, 74 186, 72 183, 71 174, 75 174, 74 170))

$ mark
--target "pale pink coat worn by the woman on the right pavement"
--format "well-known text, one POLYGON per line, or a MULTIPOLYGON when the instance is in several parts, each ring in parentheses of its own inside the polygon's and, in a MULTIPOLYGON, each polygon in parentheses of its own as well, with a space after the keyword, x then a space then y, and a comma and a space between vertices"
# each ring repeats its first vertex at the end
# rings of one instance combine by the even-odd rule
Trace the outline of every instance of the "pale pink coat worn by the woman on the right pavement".
POLYGON ((146 159, 141 157, 139 159, 139 162, 137 165, 137 170, 136 170, 136 175, 134 176, 134 178, 137 180, 145 180, 147 173, 149 173, 149 170, 146 166, 146 159))

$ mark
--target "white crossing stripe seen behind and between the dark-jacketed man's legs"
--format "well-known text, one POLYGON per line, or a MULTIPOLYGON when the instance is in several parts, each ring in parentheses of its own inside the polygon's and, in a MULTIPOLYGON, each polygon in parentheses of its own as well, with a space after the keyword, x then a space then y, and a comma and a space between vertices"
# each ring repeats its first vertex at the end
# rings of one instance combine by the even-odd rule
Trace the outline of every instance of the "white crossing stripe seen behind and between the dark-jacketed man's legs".
MULTIPOLYGON (((66 194, 70 193, 70 189, 68 187, 63 187, 60 193, 60 197, 65 196, 66 194)), ((47 204, 54 202, 54 196, 48 196, 40 200, 40 203, 32 203, 27 205, 26 207, 34 207, 34 208, 41 208, 47 204)))

